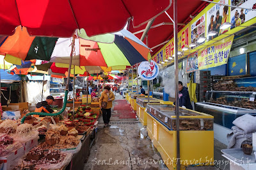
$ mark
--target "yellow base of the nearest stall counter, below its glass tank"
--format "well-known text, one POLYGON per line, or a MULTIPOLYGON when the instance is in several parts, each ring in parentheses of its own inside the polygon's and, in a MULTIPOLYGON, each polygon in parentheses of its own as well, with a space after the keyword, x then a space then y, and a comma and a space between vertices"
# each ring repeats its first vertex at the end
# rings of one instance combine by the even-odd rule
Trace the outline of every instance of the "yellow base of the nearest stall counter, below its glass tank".
MULTIPOLYGON (((170 130, 148 112, 147 131, 168 169, 176 169, 176 130, 170 130)), ((204 116, 204 114, 203 114, 204 116)), ((180 164, 187 166, 213 166, 213 130, 180 130, 180 164)))

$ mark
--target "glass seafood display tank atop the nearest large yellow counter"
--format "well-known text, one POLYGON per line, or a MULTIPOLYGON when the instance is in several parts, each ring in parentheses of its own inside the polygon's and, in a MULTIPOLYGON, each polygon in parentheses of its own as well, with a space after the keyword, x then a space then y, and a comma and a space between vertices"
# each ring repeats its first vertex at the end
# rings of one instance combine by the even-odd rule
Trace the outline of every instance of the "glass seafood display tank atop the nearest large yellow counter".
MULTIPOLYGON (((176 130, 175 107, 164 104, 147 104, 148 114, 156 118, 169 130, 176 130)), ((213 117, 209 114, 179 109, 180 130, 213 130, 213 117)))

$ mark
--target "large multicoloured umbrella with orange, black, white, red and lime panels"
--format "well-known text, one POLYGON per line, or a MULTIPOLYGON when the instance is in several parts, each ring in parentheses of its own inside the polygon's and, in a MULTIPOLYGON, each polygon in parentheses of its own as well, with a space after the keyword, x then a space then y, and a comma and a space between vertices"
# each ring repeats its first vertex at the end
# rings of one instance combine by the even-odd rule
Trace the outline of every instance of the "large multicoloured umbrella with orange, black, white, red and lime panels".
MULTIPOLYGON (((81 35, 83 36, 83 35, 81 35)), ((41 59, 68 68, 72 38, 29 36, 26 28, 17 27, 13 36, 8 36, 0 47, 6 61, 20 65, 22 60, 41 59)), ((100 43, 82 38, 75 39, 72 65, 105 66, 112 70, 125 70, 141 61, 150 59, 150 49, 129 31, 115 34, 113 43, 100 43), (121 68, 121 69, 117 69, 121 68)))

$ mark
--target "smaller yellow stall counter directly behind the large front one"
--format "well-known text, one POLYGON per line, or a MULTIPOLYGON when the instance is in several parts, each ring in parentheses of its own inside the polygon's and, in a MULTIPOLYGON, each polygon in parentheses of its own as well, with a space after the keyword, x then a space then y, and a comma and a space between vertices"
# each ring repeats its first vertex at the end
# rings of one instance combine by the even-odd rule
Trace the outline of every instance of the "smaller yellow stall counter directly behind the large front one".
MULTIPOLYGON (((150 103, 159 104, 161 100, 150 97, 150 103)), ((147 113, 145 112, 146 105, 148 103, 148 98, 137 97, 136 98, 136 114, 140 119, 143 126, 147 126, 147 113)))

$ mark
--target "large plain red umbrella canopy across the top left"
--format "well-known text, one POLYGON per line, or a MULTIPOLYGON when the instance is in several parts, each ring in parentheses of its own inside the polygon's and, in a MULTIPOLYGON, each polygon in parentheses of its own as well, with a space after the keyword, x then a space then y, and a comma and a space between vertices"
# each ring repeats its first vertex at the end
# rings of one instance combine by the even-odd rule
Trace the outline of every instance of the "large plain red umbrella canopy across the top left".
POLYGON ((88 35, 116 32, 132 19, 135 27, 146 24, 170 8, 172 1, 0 1, 0 35, 13 35, 25 26, 30 35, 70 37, 85 28, 88 35), (141 9, 147 9, 142 10, 141 9))

